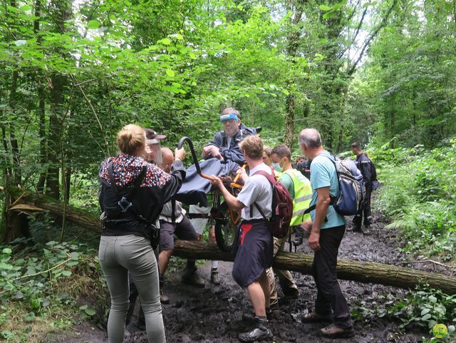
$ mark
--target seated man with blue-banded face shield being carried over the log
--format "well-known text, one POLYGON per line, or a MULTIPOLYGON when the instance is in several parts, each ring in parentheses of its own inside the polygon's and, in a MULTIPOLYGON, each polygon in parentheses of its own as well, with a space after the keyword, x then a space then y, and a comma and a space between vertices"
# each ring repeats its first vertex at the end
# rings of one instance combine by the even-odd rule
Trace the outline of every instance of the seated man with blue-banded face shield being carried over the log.
POLYGON ((239 111, 232 107, 222 111, 220 121, 223 123, 223 130, 217 132, 214 139, 202 149, 203 157, 244 163, 244 155, 238 146, 239 142, 247 135, 254 135, 256 132, 241 123, 239 111))

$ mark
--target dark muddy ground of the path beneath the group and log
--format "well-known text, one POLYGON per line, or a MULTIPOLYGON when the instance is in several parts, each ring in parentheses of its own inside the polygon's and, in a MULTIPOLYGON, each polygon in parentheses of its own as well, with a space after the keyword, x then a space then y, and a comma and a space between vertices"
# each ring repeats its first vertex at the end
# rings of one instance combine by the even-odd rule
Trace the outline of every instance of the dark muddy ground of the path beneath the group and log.
MULTIPOLYGON (((376 218, 368 235, 347 230, 343 238, 339 258, 346 260, 360 260, 399 265, 405 257, 398 252, 398 240, 395 232, 383 229, 383 222, 376 218)), ((309 247, 301 245, 299 251, 311 253, 309 247)), ((428 269, 428 265, 413 265, 420 269, 428 269)), ((198 289, 180 282, 178 272, 167 275, 166 293, 170 297, 170 304, 163 306, 163 317, 167 335, 167 342, 239 342, 237 334, 247 331, 242 322, 242 313, 251 312, 247 291, 242 290, 231 277, 231 262, 220 262, 219 270, 222 284, 214 286, 209 283, 210 262, 199 267, 199 273, 207 280, 204 289, 198 289)), ((435 272, 440 272, 435 270, 435 272)), ((300 317, 312 309, 316 290, 314 280, 309 275, 294 273, 296 284, 301 295, 296 300, 281 302, 279 309, 274 312, 272 331, 276 343, 324 343, 334 342, 318 335, 321 324, 303 324, 300 317)), ((363 306, 373 309, 376 303, 382 302, 380 295, 393 295, 395 299, 402 299, 404 290, 382 285, 362 284, 341 280, 341 287, 348 304, 356 308, 361 302, 363 306)), ((136 317, 127 327, 125 342, 147 342, 145 332, 136 327, 136 317)), ((422 342, 422 337, 429 335, 418 330, 399 328, 399 321, 363 317, 354 323, 356 335, 351 339, 338 339, 336 342, 353 343, 386 343, 422 342)), ((106 333, 90 323, 74 327, 73 333, 67 337, 58 337, 48 342, 66 343, 99 343, 108 342, 106 333)))

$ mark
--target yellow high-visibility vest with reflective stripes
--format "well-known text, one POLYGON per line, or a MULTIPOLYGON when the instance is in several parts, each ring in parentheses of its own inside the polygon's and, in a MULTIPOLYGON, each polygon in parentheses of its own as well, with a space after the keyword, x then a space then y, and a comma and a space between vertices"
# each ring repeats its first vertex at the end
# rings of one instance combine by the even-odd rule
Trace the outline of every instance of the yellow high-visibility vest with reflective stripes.
POLYGON ((303 222, 311 219, 309 213, 304 215, 304 211, 311 205, 311 182, 299 170, 289 169, 284 171, 284 173, 290 176, 294 185, 293 217, 291 217, 290 225, 301 225, 303 222))

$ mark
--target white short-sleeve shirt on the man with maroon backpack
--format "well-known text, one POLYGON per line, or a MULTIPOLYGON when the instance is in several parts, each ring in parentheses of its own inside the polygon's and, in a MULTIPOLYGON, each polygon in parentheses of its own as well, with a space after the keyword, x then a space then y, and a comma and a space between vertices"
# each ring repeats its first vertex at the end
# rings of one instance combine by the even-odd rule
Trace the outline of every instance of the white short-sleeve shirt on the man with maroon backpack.
POLYGON ((272 186, 271 183, 269 183, 269 180, 263 175, 253 175, 258 170, 264 170, 266 173, 272 175, 271 168, 264 163, 261 163, 250 170, 249 175, 252 176, 247 178, 244 187, 239 195, 237 195, 237 200, 245 205, 241 214, 243 220, 263 219, 263 216, 259 213, 255 205, 253 206, 253 213, 250 213, 250 205, 254 203, 259 205, 267 218, 271 217, 272 186))

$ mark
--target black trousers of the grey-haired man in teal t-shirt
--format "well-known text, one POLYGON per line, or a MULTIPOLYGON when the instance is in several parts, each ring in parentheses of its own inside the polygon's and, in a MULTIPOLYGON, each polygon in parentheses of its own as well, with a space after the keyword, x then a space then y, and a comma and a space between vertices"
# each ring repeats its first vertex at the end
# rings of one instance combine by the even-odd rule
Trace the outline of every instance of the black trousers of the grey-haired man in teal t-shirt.
POLYGON ((344 232, 345 225, 320 231, 321 249, 315 252, 312 264, 317 290, 315 312, 323 316, 333 314, 335 324, 340 327, 352 327, 348 304, 336 275, 338 249, 344 232))

